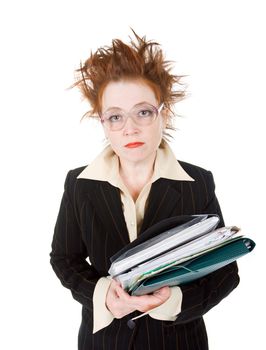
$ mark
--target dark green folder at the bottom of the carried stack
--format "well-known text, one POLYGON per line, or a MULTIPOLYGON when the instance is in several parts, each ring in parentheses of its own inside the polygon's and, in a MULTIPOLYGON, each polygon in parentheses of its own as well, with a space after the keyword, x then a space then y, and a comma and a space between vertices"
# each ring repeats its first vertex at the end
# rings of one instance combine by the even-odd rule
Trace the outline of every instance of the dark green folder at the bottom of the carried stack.
POLYGON ((180 265, 169 267, 153 277, 142 280, 131 291, 131 295, 144 295, 164 286, 178 286, 204 277, 221 267, 230 264, 243 255, 251 252, 255 242, 246 237, 237 237, 207 251, 180 265))

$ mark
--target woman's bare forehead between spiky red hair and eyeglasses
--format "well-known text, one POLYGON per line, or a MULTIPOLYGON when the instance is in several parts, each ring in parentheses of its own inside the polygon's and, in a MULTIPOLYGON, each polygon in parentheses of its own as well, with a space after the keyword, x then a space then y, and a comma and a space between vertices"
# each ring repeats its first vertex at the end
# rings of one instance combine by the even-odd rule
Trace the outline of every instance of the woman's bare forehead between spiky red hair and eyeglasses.
POLYGON ((154 91, 141 80, 110 82, 102 95, 103 111, 110 107, 129 110, 140 102, 157 104, 154 91))

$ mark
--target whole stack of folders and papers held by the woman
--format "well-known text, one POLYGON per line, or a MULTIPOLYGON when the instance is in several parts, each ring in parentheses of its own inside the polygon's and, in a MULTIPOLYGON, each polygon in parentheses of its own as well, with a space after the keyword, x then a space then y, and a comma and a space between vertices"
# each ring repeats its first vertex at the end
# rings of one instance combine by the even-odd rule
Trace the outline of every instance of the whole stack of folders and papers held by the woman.
POLYGON ((155 224, 111 258, 109 274, 131 295, 189 283, 251 252, 255 242, 217 215, 185 215, 155 224))

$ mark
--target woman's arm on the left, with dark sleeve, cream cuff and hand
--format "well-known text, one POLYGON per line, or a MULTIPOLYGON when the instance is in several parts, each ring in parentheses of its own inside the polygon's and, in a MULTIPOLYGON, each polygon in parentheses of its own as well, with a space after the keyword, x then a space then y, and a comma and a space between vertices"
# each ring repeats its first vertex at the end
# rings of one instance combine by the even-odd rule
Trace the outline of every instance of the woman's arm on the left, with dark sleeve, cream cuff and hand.
MULTIPOLYGON (((73 173, 69 171, 65 180, 64 194, 54 230, 50 261, 63 286, 70 289, 74 299, 90 310, 91 314, 94 314, 95 333, 110 324, 114 317, 105 304, 110 281, 101 278, 93 266, 86 261, 88 254, 82 240, 78 215, 76 215, 74 207, 75 177, 71 175, 73 173)), ((154 297, 147 296, 148 301, 140 298, 140 302, 139 300, 136 302, 134 299, 129 306, 128 296, 124 300, 125 295, 123 295, 122 300, 120 298, 121 303, 117 303, 116 294, 113 300, 117 308, 111 307, 111 311, 114 312, 115 317, 120 318, 122 314, 119 314, 117 309, 120 308, 121 304, 125 314, 136 309, 145 309, 146 311, 147 303, 149 303, 149 308, 153 308, 160 305, 168 296, 167 294, 163 297, 160 294, 154 297)))

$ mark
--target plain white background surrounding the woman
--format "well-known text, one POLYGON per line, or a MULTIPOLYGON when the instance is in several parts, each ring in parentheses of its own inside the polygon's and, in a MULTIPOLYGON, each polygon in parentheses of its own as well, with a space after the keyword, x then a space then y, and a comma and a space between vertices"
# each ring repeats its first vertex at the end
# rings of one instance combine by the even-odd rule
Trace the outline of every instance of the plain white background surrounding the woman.
POLYGON ((66 173, 95 157, 103 134, 80 123, 88 106, 67 88, 91 49, 127 41, 130 27, 189 75, 172 148, 213 172, 226 223, 257 243, 239 260, 239 287, 205 317, 210 349, 261 349, 266 26, 256 0, 1 2, 0 347, 76 349, 81 307, 50 267, 50 244, 66 173))

